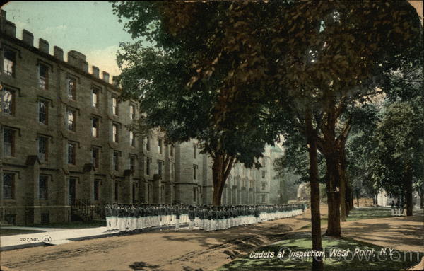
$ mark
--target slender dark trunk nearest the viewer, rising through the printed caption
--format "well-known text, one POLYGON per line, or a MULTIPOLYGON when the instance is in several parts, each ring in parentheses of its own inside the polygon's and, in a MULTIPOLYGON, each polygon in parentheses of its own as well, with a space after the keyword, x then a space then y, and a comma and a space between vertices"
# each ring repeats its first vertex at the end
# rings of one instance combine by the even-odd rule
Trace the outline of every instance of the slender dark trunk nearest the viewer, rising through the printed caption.
MULTIPOLYGON (((315 132, 312 127, 311 113, 305 113, 306 137, 309 146, 310 157, 310 193, 311 193, 311 222, 312 222, 312 249, 322 250, 321 238, 321 214, 319 212, 319 176, 318 176, 318 159, 317 159, 317 142, 315 132)), ((322 257, 312 258, 312 270, 324 270, 322 257)))

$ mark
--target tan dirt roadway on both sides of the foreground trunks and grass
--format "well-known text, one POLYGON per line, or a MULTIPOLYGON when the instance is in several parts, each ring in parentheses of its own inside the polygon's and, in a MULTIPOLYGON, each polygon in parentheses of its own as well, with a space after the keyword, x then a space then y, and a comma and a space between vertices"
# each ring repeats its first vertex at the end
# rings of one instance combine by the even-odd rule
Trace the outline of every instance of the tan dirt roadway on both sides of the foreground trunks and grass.
MULTIPOLYGON (((326 214, 323 206, 322 214, 326 214)), ((213 270, 310 224, 310 212, 226 231, 156 231, 1 253, 11 270, 213 270)), ((343 236, 399 250, 423 251, 423 216, 342 223, 343 236)), ((323 233, 325 229, 323 229, 323 233)))

